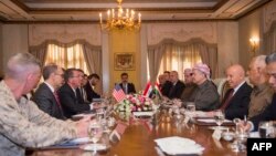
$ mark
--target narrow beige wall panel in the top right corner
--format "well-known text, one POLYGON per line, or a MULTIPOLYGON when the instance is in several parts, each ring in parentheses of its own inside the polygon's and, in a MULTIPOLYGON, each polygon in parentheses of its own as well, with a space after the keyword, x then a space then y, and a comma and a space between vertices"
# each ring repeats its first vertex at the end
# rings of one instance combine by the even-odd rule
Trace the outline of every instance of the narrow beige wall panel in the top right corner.
POLYGON ((272 1, 264 9, 264 32, 269 31, 274 21, 276 21, 276 1, 272 1))

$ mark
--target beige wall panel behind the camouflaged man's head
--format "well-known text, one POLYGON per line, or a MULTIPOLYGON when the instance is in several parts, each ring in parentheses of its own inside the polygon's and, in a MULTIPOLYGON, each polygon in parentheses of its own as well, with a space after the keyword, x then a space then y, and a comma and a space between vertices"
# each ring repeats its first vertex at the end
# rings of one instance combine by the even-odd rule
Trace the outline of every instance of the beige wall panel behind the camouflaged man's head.
POLYGON ((2 60, 6 66, 7 60, 19 52, 28 52, 28 25, 3 24, 2 25, 2 60))

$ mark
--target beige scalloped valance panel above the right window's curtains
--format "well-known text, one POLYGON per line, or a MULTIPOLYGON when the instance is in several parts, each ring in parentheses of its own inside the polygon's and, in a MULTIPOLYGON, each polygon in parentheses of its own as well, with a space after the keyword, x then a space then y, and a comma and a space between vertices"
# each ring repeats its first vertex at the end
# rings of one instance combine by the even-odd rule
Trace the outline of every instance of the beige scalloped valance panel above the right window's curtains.
POLYGON ((216 43, 216 22, 148 24, 148 45, 155 45, 163 39, 185 42, 193 38, 216 43))

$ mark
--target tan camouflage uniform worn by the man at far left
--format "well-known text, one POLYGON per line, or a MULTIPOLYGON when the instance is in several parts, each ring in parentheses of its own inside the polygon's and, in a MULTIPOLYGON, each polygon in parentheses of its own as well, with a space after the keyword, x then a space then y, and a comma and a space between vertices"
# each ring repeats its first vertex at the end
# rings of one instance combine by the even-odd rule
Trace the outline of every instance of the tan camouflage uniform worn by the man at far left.
POLYGON ((35 103, 17 101, 10 89, 0 82, 0 155, 25 155, 25 147, 35 148, 76 137, 75 125, 50 117, 35 103))

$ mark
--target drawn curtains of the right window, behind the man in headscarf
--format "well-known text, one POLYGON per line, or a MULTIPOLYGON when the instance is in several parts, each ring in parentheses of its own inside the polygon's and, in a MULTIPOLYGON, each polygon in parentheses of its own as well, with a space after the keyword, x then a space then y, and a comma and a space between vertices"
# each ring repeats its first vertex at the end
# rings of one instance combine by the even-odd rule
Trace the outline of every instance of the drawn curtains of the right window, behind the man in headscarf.
POLYGON ((178 71, 179 79, 182 80, 183 69, 201 62, 210 66, 213 77, 217 74, 216 44, 205 43, 201 39, 192 39, 188 42, 163 40, 157 45, 149 46, 148 59, 150 81, 156 81, 158 74, 163 71, 178 71))

